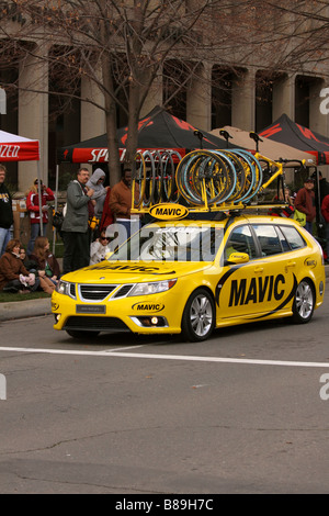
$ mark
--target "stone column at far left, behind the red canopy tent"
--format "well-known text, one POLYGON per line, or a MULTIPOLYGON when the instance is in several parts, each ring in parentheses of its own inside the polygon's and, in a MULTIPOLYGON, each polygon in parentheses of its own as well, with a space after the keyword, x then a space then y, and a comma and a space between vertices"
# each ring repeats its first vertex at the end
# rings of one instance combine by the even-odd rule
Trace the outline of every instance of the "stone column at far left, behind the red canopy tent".
MULTIPOLYGON (((39 141, 39 171, 48 181, 48 47, 38 46, 20 68, 19 135, 39 141), (43 93, 45 92, 45 93, 43 93)), ((19 190, 24 192, 37 177, 36 161, 19 164, 19 190)))

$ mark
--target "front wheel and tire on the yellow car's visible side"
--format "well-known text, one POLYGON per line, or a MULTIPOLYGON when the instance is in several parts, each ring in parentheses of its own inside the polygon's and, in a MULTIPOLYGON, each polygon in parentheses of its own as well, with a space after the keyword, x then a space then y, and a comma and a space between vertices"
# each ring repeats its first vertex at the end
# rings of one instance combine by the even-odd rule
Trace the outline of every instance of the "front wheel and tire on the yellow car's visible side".
POLYGON ((215 327, 215 303, 205 289, 195 290, 189 298, 182 317, 182 334, 192 343, 206 340, 215 327))

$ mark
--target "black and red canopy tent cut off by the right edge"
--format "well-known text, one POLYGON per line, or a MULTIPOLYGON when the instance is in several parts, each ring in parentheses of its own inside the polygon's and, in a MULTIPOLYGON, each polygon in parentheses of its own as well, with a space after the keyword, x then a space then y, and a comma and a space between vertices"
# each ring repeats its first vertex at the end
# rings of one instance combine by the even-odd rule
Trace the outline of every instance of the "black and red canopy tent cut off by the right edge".
POLYGON ((329 138, 292 121, 282 114, 275 122, 258 133, 299 150, 313 154, 317 165, 329 164, 329 138))

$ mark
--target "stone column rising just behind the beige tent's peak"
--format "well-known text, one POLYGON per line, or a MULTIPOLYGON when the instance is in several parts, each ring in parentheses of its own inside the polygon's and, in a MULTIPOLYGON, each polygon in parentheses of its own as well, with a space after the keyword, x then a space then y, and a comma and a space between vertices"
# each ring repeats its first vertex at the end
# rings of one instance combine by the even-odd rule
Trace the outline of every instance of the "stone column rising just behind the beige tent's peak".
POLYGON ((254 71, 241 71, 231 89, 231 125, 243 131, 254 130, 254 71))

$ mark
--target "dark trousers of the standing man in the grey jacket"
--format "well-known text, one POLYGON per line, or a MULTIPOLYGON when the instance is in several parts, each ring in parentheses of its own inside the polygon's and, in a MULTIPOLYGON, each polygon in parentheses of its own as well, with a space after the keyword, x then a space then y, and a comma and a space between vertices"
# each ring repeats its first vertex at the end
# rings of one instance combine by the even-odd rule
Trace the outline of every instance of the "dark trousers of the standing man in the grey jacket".
POLYGON ((63 274, 89 266, 90 244, 88 232, 63 232, 61 236, 64 242, 63 274))

